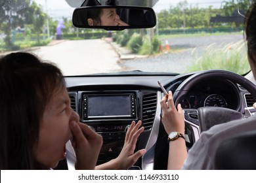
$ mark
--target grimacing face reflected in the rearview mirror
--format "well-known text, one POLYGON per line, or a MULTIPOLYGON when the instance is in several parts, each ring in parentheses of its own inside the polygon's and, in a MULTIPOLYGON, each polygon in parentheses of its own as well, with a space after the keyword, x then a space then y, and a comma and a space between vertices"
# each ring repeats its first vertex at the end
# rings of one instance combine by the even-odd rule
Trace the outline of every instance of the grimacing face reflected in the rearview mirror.
POLYGON ((129 26, 120 19, 115 8, 99 8, 94 12, 94 14, 95 16, 91 16, 91 18, 87 17, 89 25, 129 26), (98 15, 96 16, 96 14, 98 15))

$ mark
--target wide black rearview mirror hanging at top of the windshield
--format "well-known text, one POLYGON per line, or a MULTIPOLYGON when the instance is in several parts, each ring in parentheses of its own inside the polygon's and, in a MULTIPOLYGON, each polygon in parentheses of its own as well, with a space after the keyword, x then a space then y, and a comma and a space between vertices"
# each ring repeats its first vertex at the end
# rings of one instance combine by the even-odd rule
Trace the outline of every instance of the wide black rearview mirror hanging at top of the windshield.
POLYGON ((156 14, 149 7, 93 6, 75 8, 75 27, 123 30, 150 28, 156 25, 156 14))

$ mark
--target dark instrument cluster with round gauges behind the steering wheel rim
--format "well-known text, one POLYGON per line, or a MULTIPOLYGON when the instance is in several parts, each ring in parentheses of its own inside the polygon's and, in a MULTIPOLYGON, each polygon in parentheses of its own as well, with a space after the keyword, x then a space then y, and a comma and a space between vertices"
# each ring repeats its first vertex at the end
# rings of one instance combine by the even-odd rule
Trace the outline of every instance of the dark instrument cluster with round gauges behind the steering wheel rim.
MULTIPOLYGON (((181 82, 170 87, 173 93, 181 82)), ((240 105, 239 89, 228 80, 215 79, 200 82, 188 91, 181 101, 181 106, 182 108, 226 107, 237 110, 240 105)))

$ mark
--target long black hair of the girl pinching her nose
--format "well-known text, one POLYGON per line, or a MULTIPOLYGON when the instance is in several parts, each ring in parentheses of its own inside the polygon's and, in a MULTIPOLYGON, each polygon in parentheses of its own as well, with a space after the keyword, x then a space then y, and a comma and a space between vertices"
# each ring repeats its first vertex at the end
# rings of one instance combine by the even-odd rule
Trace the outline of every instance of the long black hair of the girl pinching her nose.
POLYGON ((60 69, 32 54, 0 59, 0 169, 47 169, 33 147, 47 104, 64 87, 60 69))

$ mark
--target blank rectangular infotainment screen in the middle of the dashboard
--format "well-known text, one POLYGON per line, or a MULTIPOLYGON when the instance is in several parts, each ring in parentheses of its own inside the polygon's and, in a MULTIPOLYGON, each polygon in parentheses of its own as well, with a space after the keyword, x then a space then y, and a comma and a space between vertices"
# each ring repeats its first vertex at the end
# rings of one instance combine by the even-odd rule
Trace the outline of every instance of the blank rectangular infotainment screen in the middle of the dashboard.
POLYGON ((88 118, 131 116, 131 95, 87 95, 87 106, 88 118))

